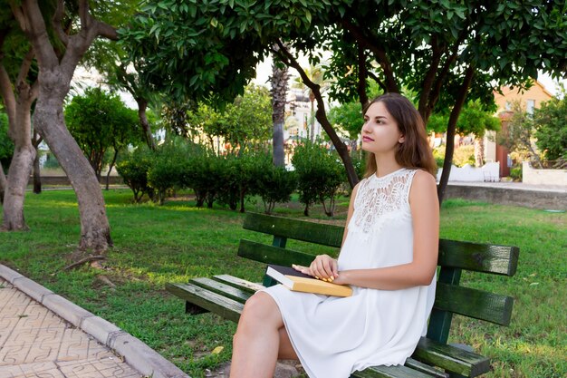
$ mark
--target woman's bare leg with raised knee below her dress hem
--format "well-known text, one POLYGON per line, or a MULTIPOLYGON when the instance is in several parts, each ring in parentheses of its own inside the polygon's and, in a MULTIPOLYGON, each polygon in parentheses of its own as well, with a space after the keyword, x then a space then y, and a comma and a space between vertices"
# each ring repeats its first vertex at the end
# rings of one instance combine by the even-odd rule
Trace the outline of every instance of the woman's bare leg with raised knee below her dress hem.
MULTIPOLYGON (((272 296, 256 293, 245 304, 236 330, 230 378, 272 378, 280 349, 290 355, 287 334, 281 337, 283 319, 272 296)), ((294 353, 293 353, 294 354, 294 353)))

